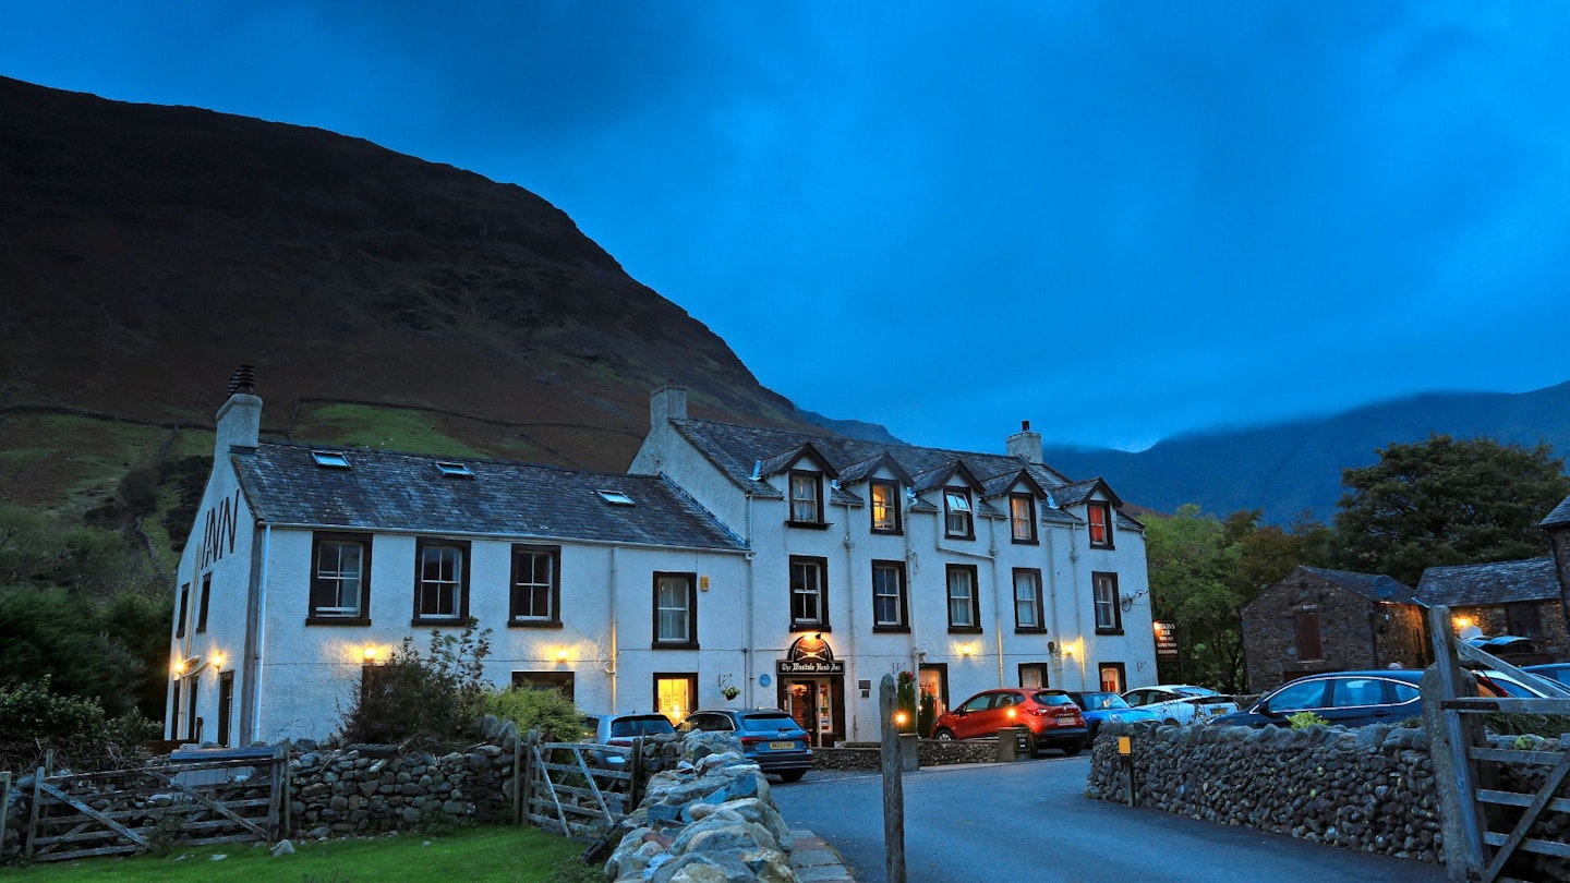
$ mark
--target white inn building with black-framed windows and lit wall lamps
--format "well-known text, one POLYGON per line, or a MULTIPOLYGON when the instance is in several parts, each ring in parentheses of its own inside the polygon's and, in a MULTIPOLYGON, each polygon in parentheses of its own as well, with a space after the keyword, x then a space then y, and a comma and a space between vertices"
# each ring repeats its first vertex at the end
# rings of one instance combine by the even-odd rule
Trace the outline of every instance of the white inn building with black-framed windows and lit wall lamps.
POLYGON ((691 420, 652 396, 628 473, 259 438, 242 377, 181 559, 170 738, 330 737, 366 665, 490 628, 495 685, 586 712, 777 705, 879 737, 876 683, 1154 682, 1143 526, 1005 454, 691 420), (735 688, 735 690, 732 690, 735 688), (727 698, 735 693, 735 698, 727 698))

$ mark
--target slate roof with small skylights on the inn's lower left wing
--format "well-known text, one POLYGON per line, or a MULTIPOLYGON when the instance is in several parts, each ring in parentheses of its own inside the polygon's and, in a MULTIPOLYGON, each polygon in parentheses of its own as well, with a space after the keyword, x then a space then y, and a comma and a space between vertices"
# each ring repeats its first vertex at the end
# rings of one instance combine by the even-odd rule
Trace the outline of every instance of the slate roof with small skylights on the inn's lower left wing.
POLYGON ((273 525, 590 540, 741 551, 741 539, 659 476, 506 460, 347 449, 350 468, 319 467, 311 446, 262 443, 231 452, 257 518, 273 525), (449 478, 436 462, 463 463, 449 478), (633 506, 608 503, 619 490, 633 506))

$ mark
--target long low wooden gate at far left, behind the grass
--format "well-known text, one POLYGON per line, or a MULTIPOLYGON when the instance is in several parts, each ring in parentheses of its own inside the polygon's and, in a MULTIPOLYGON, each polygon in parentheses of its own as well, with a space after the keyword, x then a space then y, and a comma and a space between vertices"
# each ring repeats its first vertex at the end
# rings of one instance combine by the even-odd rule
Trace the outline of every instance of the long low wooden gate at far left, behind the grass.
POLYGON ((276 841, 287 812, 284 746, 236 757, 33 778, 31 861, 140 853, 170 844, 276 841))

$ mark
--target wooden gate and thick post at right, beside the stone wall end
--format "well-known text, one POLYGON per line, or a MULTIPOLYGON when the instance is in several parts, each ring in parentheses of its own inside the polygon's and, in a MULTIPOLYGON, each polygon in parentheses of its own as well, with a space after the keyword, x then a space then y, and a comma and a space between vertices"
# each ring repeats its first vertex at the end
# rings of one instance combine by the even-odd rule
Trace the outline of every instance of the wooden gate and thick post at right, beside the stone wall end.
POLYGON ((1429 633, 1433 636, 1440 696, 1437 702, 1424 696, 1424 718, 1430 721, 1429 745, 1444 817, 1444 861, 1451 880, 1509 880, 1501 872, 1518 852, 1570 858, 1570 844, 1526 836, 1545 809, 1570 812, 1570 800, 1554 797, 1570 773, 1570 751, 1490 748, 1481 718, 1490 712, 1570 715, 1570 690, 1455 638, 1446 606, 1429 610, 1429 633), (1539 687, 1551 698, 1465 696, 1462 660, 1539 687), (1440 726, 1432 726, 1433 718, 1440 726), (1504 765, 1546 767, 1548 773, 1535 793, 1520 793, 1499 787, 1504 765), (1507 830, 1493 831, 1490 822, 1507 830))

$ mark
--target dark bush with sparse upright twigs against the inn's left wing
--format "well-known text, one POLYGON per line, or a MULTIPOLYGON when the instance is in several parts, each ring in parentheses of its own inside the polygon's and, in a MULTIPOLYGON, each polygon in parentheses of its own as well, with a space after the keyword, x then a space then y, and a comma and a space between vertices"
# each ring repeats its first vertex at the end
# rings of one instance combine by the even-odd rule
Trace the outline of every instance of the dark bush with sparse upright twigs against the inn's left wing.
POLYGON ((469 619, 462 636, 430 632, 421 657, 413 638, 380 665, 369 665, 350 693, 339 737, 344 742, 447 742, 479 734, 485 704, 482 663, 490 655, 490 628, 469 619))

